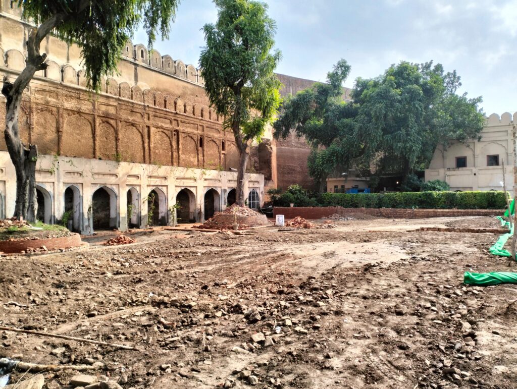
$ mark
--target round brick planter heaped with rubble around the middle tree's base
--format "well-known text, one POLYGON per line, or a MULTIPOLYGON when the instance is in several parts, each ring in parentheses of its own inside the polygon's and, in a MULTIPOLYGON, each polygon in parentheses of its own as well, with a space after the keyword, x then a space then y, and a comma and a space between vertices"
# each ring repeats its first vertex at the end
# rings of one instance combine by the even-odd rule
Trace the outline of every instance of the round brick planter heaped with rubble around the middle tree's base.
POLYGON ((266 215, 248 207, 232 204, 224 211, 216 213, 214 217, 210 217, 204 224, 196 225, 192 228, 233 229, 233 224, 238 224, 238 229, 242 230, 250 227, 265 226, 270 223, 266 215))

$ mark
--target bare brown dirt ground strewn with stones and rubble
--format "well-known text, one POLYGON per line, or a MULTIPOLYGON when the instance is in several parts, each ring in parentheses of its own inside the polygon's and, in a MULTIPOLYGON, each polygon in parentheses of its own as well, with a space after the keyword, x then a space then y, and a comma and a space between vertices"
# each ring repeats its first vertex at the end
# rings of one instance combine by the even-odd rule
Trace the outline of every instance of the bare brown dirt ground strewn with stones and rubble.
POLYGON ((463 284, 517 271, 488 253, 497 235, 408 232, 492 219, 333 223, 1 258, 0 325, 139 351, 0 331, 0 357, 95 364, 126 389, 517 387, 517 286, 463 284))

